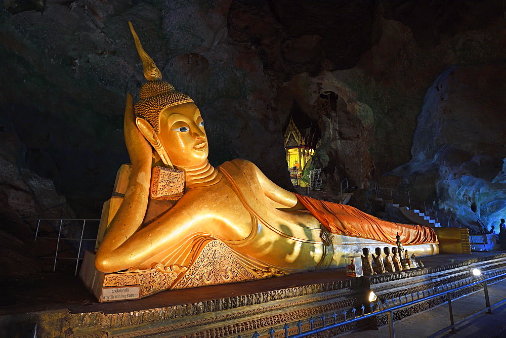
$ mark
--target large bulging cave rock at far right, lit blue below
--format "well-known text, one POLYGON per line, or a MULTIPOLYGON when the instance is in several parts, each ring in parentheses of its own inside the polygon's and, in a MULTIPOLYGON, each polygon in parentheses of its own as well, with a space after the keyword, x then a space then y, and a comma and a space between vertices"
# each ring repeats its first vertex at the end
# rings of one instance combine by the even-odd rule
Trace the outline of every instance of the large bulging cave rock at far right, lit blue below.
POLYGON ((487 230, 506 215, 505 72, 501 62, 442 73, 425 96, 411 161, 392 172, 458 221, 487 230))

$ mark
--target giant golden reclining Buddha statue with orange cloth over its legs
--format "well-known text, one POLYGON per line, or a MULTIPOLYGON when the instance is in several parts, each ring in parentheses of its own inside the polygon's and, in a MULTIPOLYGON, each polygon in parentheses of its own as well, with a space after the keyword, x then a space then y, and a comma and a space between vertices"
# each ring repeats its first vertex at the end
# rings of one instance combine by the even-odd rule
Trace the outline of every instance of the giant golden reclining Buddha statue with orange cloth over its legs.
POLYGON ((418 257, 438 253, 429 227, 289 192, 247 160, 210 165, 199 109, 161 80, 131 29, 148 82, 135 106, 130 94, 126 101, 132 165, 117 211, 102 216, 111 221, 96 252, 99 271, 170 275, 159 289, 263 279, 342 267, 363 247, 395 244, 397 233, 418 257), (159 189, 180 184, 176 197, 159 189))

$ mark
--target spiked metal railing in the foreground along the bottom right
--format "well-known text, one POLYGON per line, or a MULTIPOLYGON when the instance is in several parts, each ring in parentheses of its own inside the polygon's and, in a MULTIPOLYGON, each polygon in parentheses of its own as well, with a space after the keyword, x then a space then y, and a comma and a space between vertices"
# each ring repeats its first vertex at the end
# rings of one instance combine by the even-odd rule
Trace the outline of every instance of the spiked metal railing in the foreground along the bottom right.
MULTIPOLYGON (((429 288, 427 290, 422 290, 420 292, 406 294, 399 298, 393 298, 392 300, 384 300, 382 302, 381 300, 371 302, 368 307, 365 307, 362 305, 359 310, 353 308, 350 311, 343 311, 342 315, 338 315, 335 312, 332 313, 332 315, 329 315, 328 317, 325 317, 325 315, 322 315, 318 320, 315 320, 313 317, 311 317, 305 324, 301 320, 298 321, 296 326, 292 326, 292 328, 297 327, 297 333, 290 335, 288 333, 290 326, 285 323, 282 327, 282 330, 284 331, 285 337, 290 338, 299 338, 299 337, 306 337, 308 335, 312 335, 315 333, 324 332, 333 328, 338 328, 340 326, 350 324, 353 322, 357 322, 360 320, 364 320, 366 318, 376 317, 378 315, 387 314, 387 320, 389 325, 389 331, 390 331, 390 337, 395 336, 395 330, 394 330, 394 311, 399 310, 402 308, 405 308, 407 306, 414 305, 416 303, 420 302, 426 302, 428 300, 438 298, 438 297, 447 297, 446 302, 441 302, 439 305, 444 305, 448 303, 448 309, 449 309, 449 319, 450 319, 450 325, 444 327, 443 329, 439 330, 438 332, 432 334, 430 337, 435 337, 441 333, 444 333, 446 331, 451 331, 452 333, 455 333, 455 327, 478 316, 479 314, 482 314, 484 312, 492 313, 492 308, 495 308, 503 303, 506 302, 506 299, 503 299, 500 302, 497 302, 493 305, 490 305, 490 298, 488 295, 488 281, 492 279, 499 279, 501 277, 506 277, 506 269, 500 269, 493 272, 483 273, 479 276, 472 276, 468 278, 464 278, 461 280, 458 280, 456 282, 447 283, 441 286, 435 286, 434 288, 429 288), (485 275, 489 275, 489 277, 485 277, 485 275), (485 294, 485 308, 458 321, 454 322, 453 317, 453 309, 452 309, 452 300, 455 300, 452 298, 452 293, 464 288, 468 288, 474 285, 483 284, 484 294, 485 294), (440 291, 442 290, 442 291, 440 291), (431 294, 432 293, 432 294, 431 294), (366 313, 366 309, 368 313, 366 313), (357 312, 359 313, 357 315, 357 312), (338 317, 344 318, 342 321, 338 321, 338 317), (327 322, 327 319, 331 319, 331 323, 329 324, 327 322), (302 327, 305 325, 310 325, 310 329, 307 331, 302 330, 302 327), (318 324, 318 328, 315 328, 316 324, 318 324)), ((503 278, 502 278, 503 279, 503 278)), ((465 297, 465 296, 462 296, 465 297)), ((458 297, 461 298, 461 297, 458 297)), ((279 330, 278 330, 279 331, 279 330)), ((274 337, 274 333, 276 333, 276 330, 274 327, 271 327, 267 333, 269 333, 270 337, 274 337)), ((260 334, 258 331, 255 331, 255 333, 252 335, 253 338, 258 338, 260 334)), ((241 335, 238 335, 238 338, 240 338, 241 335)))

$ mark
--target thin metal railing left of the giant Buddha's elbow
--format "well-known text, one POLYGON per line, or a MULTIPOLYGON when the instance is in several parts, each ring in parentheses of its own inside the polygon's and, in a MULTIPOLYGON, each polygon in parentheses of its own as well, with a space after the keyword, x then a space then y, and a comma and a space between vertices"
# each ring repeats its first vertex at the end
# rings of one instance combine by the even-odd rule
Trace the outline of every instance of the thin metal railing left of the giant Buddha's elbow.
MULTIPOLYGON (((30 220, 28 220, 30 221, 30 220)), ((35 238, 37 239, 47 239, 47 240, 56 240, 56 249, 55 249, 55 255, 49 256, 49 257, 40 257, 40 258, 47 258, 47 259, 53 259, 53 272, 56 271, 56 263, 58 260, 75 260, 75 271, 74 275, 77 275, 77 269, 79 266, 79 261, 83 259, 84 255, 81 254, 81 251, 83 249, 87 249, 90 245, 83 245, 83 242, 94 242, 97 240, 96 234, 98 230, 98 223, 100 220, 97 219, 36 219, 31 221, 37 221, 37 228, 35 230, 35 238), (51 227, 58 231, 57 237, 51 237, 51 236, 39 236, 39 230, 40 230, 40 223, 41 222, 47 222, 51 225, 51 227), (87 223, 88 222, 88 223, 87 223), (94 229, 92 231, 89 231, 90 233, 95 233, 95 238, 85 238, 85 229, 87 229, 87 225, 90 226, 90 223, 94 225, 94 229), (77 227, 81 227, 78 228, 77 227), (70 228, 70 229, 65 229, 70 228), (63 232, 62 232, 63 230, 63 232), (63 236, 62 236, 63 235, 63 236), (74 244, 71 244, 71 247, 74 248, 75 251, 77 251, 77 254, 75 257, 61 257, 58 256, 60 252, 60 242, 62 240, 73 242, 74 244), (77 241, 77 242, 76 242, 77 241)))

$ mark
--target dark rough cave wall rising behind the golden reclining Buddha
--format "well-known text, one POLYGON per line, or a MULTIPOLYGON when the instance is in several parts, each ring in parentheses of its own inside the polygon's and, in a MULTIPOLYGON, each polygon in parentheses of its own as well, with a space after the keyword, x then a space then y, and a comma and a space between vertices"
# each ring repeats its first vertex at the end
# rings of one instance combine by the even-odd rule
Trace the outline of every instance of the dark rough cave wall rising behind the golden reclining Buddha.
MULTIPOLYGON (((25 165, 40 177, 49 195, 65 196, 77 217, 99 217, 117 169, 129 161, 122 136, 124 96, 136 95, 144 81, 126 24, 130 20, 164 78, 201 108, 213 164, 245 158, 288 188, 283 131, 292 115, 300 128, 318 126, 321 142, 313 166, 323 169, 326 189, 335 191, 346 177, 381 179, 410 160, 424 96, 445 69, 487 64, 470 67, 476 73, 488 70, 462 81, 470 86, 482 80, 485 94, 503 95, 501 82, 487 80, 504 74, 498 64, 506 59, 503 13, 500 2, 473 1, 91 0, 86 6, 48 1, 42 15, 2 10, 0 131, 2 139, 17 136, 19 158, 7 156, 5 147, 0 154, 5 165, 17 171, 25 165)), ((458 83, 448 86, 451 93, 460 90, 458 83)), ((472 100, 481 98, 470 97, 466 105, 472 100)), ((488 105, 491 114, 503 115, 502 101, 483 102, 488 105)), ((461 128, 473 130, 469 123, 474 121, 462 123, 461 128)), ((453 133, 465 134, 442 134, 453 133)), ((419 148, 433 140, 421 139, 419 148)), ((500 209, 494 206, 497 183, 490 182, 506 154, 503 148, 482 153, 478 150, 489 147, 462 143, 478 148, 456 148, 471 154, 452 164, 458 179, 447 181, 450 176, 440 176, 442 166, 435 166, 409 182, 416 182, 420 198, 430 197, 439 182, 442 206, 464 210, 475 201, 486 222, 488 210, 500 209), (489 157, 476 157, 481 155, 489 157), (471 164, 479 175, 459 174, 469 173, 471 164), (460 194, 461 185, 474 186, 467 188, 473 197, 465 203, 446 197, 460 194), (478 187, 490 192, 476 197, 478 187)), ((0 185, 11 191, 15 179, 0 177, 0 185)), ((8 193, 10 210, 38 210, 37 193, 18 190, 8 193)), ((466 209, 465 214, 473 221, 474 213, 466 209)))

